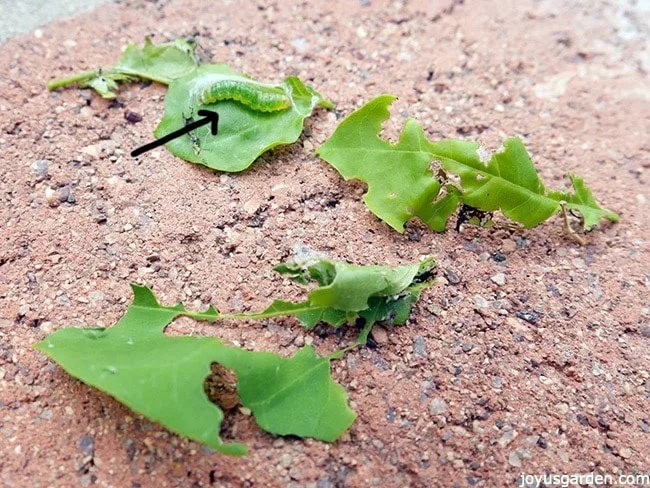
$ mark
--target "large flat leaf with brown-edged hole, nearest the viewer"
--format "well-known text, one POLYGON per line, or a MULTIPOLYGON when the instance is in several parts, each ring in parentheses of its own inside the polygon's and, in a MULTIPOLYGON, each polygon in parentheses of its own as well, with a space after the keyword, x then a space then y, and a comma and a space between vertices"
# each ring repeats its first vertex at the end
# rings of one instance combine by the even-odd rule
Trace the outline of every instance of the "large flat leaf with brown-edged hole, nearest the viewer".
POLYGON ((213 307, 202 313, 164 307, 148 288, 133 291, 115 326, 62 329, 35 347, 136 412, 225 454, 245 454, 246 446, 219 438, 224 414, 203 389, 212 362, 235 372, 242 404, 268 432, 332 442, 354 421, 345 391, 330 377, 329 358, 311 347, 282 358, 211 337, 167 337, 164 329, 180 315, 210 321, 220 315, 213 307))

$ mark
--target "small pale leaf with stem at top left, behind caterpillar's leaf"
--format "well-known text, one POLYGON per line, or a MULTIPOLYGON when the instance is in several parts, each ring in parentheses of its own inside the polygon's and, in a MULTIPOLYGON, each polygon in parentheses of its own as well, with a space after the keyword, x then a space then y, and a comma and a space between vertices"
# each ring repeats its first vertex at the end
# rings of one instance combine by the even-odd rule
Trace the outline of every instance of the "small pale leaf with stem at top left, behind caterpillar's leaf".
POLYGON ((156 45, 147 37, 142 49, 130 43, 122 59, 112 68, 78 73, 52 81, 47 87, 56 90, 77 83, 81 88, 92 88, 104 98, 115 98, 118 82, 142 79, 168 85, 197 68, 194 48, 193 43, 182 39, 156 45))

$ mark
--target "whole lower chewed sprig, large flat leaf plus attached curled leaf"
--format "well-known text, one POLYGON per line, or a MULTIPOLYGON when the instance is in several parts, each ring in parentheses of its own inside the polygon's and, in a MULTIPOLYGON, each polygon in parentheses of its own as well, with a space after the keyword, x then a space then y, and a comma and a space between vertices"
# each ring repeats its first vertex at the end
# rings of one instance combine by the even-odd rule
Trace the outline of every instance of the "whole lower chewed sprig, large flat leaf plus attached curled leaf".
POLYGON ((345 350, 320 357, 306 346, 284 358, 229 346, 214 337, 169 337, 165 328, 179 316, 215 322, 295 315, 307 328, 318 320, 338 327, 362 317, 368 325, 358 343, 365 343, 375 322, 406 321, 429 285, 432 269, 432 260, 394 268, 317 257, 292 261, 278 270, 320 286, 304 302, 278 300, 251 314, 223 314, 212 306, 191 312, 180 303, 165 307, 151 290, 133 285, 133 302, 113 327, 62 329, 35 347, 71 375, 134 411, 225 454, 245 454, 246 446, 220 439, 224 412, 209 396, 226 409, 235 406, 238 397, 267 432, 333 442, 356 417, 345 390, 330 376, 330 361, 345 350), (226 379, 215 379, 215 370, 226 379), (236 375, 236 396, 224 370, 236 375))

